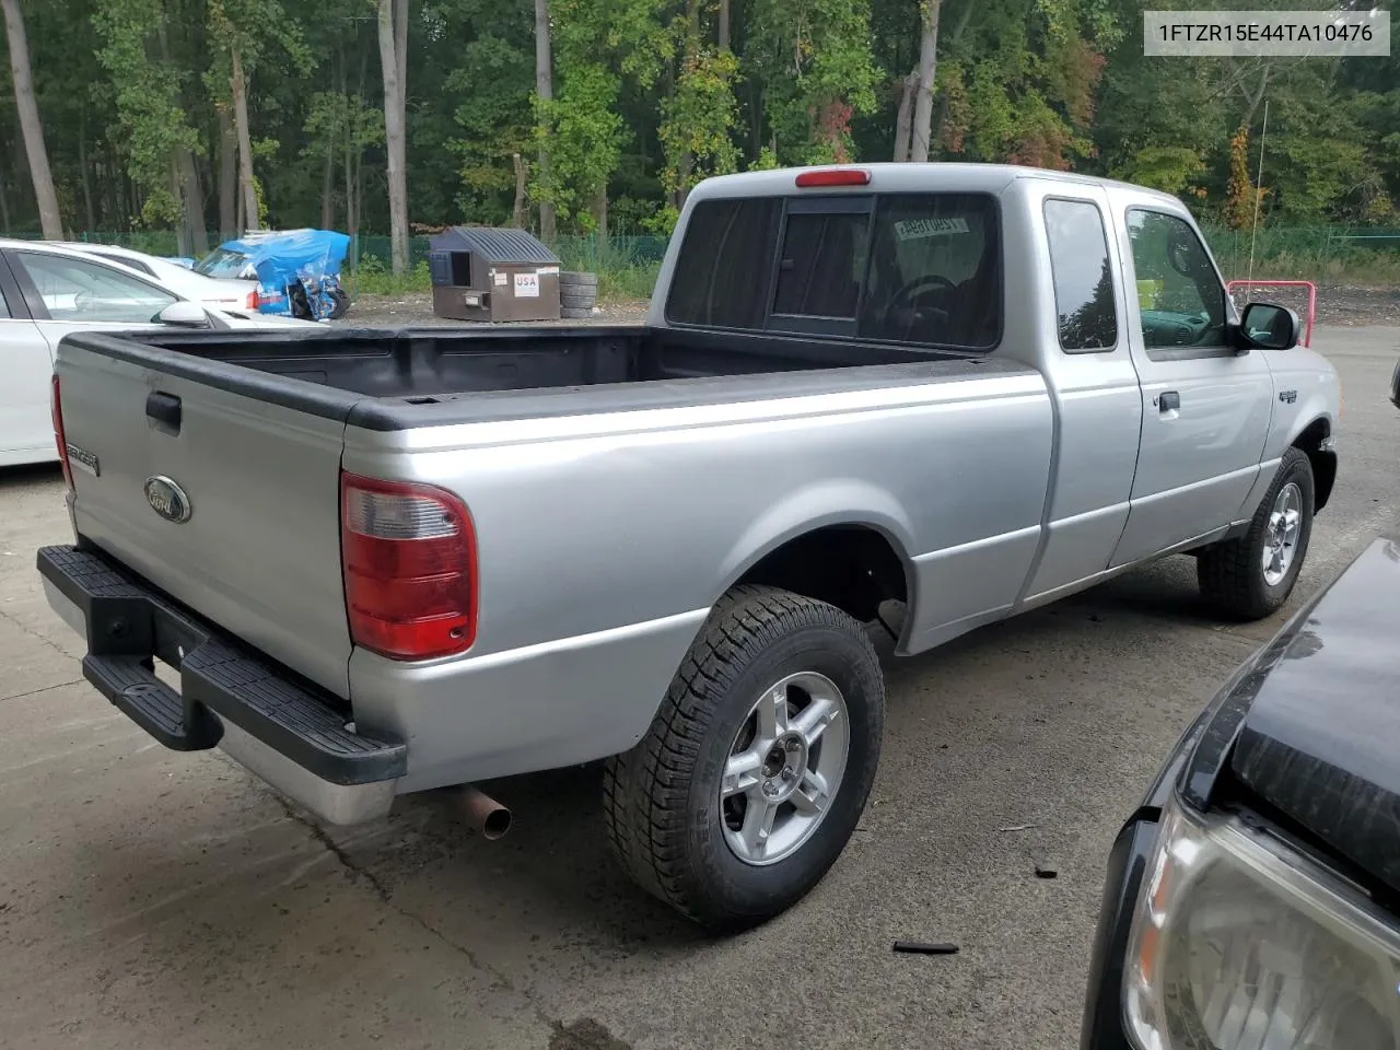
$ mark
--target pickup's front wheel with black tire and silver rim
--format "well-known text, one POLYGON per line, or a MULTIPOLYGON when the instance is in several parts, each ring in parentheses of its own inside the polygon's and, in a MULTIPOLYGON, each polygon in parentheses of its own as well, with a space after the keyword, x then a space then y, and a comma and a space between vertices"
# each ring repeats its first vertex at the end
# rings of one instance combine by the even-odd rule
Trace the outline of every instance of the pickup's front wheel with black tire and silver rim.
POLYGON ((1312 462, 1301 449, 1289 448, 1254 511, 1249 532, 1214 543, 1197 556, 1196 578, 1205 601, 1242 620, 1263 619, 1288 601, 1312 539, 1313 498, 1312 462), (1287 531, 1289 512, 1296 514, 1291 538, 1287 531), (1281 522, 1275 514, 1285 515, 1284 532, 1278 531, 1281 522), (1281 567, 1281 573, 1266 570, 1266 552, 1277 554, 1273 564, 1281 567))

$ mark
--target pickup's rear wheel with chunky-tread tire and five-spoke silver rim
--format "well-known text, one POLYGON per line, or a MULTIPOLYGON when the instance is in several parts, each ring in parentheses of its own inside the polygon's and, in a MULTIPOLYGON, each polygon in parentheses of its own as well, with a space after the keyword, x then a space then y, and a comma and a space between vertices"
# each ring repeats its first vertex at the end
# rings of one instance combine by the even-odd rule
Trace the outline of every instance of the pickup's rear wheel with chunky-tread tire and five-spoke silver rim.
POLYGON ((790 591, 736 587, 710 613, 647 735, 606 763, 603 811, 613 850, 647 892, 707 930, 757 925, 801 900, 841 854, 869 797, 883 722, 885 682, 860 623, 790 591), (783 724, 764 729, 757 706, 778 696, 792 721, 787 736, 764 748, 783 724), (811 745, 797 741, 802 714, 816 718, 822 710, 836 717, 816 722, 811 745), (749 784, 721 802, 729 759, 760 755, 781 769, 731 774, 731 791, 745 778, 749 784), (825 806, 812 805, 819 792, 805 770, 832 788, 825 806), (780 801, 770 804, 766 837, 755 820, 746 841, 757 846, 745 860, 738 850, 749 808, 755 818, 767 812, 753 804, 769 798, 764 784, 777 785, 780 801))

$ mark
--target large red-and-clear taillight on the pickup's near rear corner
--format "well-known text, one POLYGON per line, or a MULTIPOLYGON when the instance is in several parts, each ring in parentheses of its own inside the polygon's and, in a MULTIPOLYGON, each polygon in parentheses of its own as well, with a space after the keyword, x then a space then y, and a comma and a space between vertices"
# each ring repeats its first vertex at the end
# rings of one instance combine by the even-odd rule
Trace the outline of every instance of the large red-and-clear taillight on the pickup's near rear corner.
POLYGON ((431 484, 340 476, 350 638, 391 659, 465 652, 476 638, 476 535, 431 484))

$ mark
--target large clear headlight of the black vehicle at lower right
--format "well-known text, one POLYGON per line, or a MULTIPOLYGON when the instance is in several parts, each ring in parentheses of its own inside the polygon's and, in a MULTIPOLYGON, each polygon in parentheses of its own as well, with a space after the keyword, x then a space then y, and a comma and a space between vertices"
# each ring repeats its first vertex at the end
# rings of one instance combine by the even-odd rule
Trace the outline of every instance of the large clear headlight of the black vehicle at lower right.
POLYGON ((1238 818, 1162 811, 1124 1012, 1142 1050, 1396 1050, 1400 932, 1238 818))

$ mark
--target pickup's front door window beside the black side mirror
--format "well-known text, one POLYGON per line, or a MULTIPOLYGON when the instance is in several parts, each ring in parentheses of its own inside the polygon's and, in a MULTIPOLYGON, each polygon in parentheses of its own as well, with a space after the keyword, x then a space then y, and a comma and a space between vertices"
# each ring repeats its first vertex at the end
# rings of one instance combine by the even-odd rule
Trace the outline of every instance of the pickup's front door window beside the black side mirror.
POLYGON ((1128 211, 1138 322, 1149 349, 1225 347, 1225 288, 1190 224, 1162 211, 1128 211))

